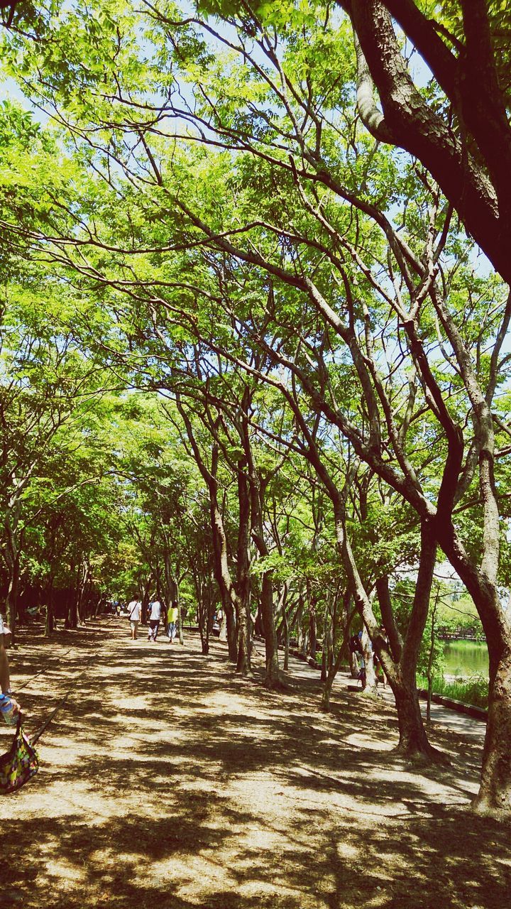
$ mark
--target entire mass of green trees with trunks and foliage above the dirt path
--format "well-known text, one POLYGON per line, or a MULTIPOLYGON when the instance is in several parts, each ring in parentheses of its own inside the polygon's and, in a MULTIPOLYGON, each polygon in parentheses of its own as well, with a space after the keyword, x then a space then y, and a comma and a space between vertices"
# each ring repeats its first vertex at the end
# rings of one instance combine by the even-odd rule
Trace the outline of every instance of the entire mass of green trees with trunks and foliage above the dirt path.
POLYGON ((26 103, 0 133, 11 621, 20 584, 48 633, 57 586, 75 623, 85 594, 154 587, 205 652, 221 607, 241 673, 263 632, 272 688, 279 641, 321 639, 326 708, 358 622, 400 749, 438 760, 416 667, 448 563, 488 644, 476 807, 497 815, 506 29, 474 0, 20 4, 2 55, 26 103))

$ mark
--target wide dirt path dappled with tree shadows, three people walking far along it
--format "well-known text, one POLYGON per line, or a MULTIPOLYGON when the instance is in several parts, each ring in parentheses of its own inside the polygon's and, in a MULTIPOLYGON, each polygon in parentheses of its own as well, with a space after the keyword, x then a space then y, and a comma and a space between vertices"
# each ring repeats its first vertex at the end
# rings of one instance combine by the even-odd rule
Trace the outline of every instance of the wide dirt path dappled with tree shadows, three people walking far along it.
POLYGON ((2 907, 509 904, 510 831, 466 812, 478 738, 438 727, 452 766, 412 767, 392 753, 388 704, 339 689, 326 716, 304 664, 290 694, 268 694, 235 676, 223 644, 208 657, 193 635, 131 644, 126 625, 14 655, 30 731, 75 689, 40 773, 0 800, 2 907))

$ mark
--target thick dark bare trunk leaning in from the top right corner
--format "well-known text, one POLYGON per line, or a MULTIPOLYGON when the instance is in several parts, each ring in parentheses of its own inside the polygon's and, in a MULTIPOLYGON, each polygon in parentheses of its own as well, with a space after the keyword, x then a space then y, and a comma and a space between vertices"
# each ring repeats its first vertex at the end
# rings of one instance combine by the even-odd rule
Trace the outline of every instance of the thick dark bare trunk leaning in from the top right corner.
POLYGON ((350 15, 358 110, 378 141, 415 155, 506 281, 511 279, 511 127, 506 5, 339 0, 350 15), (414 82, 393 19, 433 76, 414 82), (377 108, 374 86, 381 104, 377 108))

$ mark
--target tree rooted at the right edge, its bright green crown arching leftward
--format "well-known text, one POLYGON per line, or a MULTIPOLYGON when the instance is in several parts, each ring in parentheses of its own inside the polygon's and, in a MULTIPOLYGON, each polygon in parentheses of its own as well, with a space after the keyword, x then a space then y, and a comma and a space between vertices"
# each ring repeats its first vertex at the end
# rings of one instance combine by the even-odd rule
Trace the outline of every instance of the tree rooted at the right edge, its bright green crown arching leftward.
MULTIPOLYGON (((212 310, 223 311, 215 345, 229 348, 232 333, 249 339, 294 377, 312 410, 415 511, 426 560, 417 592, 420 614, 439 545, 485 627, 490 710, 477 808, 506 814, 511 629, 498 590, 496 436, 503 440, 508 427, 496 389, 506 381, 503 342, 511 300, 495 276, 475 273, 473 249, 438 188, 441 175, 435 183, 415 160, 396 165, 359 130, 346 22, 318 23, 307 8, 297 33, 284 15, 295 7, 279 7, 277 14, 260 11, 267 21, 245 6, 236 17, 230 7, 234 34, 199 17, 179 18, 174 9, 167 15, 152 8, 157 53, 144 61, 131 53, 129 15, 118 34, 107 23, 94 47, 78 23, 75 94, 69 69, 52 70, 45 48, 25 61, 28 72, 33 63, 45 70, 40 94, 71 118, 83 159, 100 175, 85 181, 81 200, 72 194, 74 205, 61 210, 58 230, 37 239, 65 274, 74 270, 84 285, 92 281, 115 298, 117 313, 119 295, 140 305, 142 319, 133 310, 126 315, 128 302, 117 316, 129 323, 130 345, 145 343, 148 326, 157 337, 170 313, 173 330, 181 333, 173 335, 172 356, 165 355, 170 372, 197 335, 208 335, 212 310), (230 57, 206 45, 205 35, 212 34, 230 57), (316 66, 320 52, 323 65, 316 66), (87 68, 87 54, 105 65, 87 68), (121 65, 122 86, 115 78, 121 65), (138 91, 141 72, 151 74, 152 88, 160 86, 157 103, 138 91), (169 96, 169 72, 172 79, 181 73, 191 86, 184 101, 169 96), (164 128, 170 116, 195 127, 193 135, 175 135, 172 148, 164 128), (225 153, 208 152, 208 145, 225 153), (97 215, 91 229, 93 200, 95 213, 105 217, 99 225, 97 215), (345 394, 345 375, 355 395, 345 394), (459 517, 465 508, 478 509, 475 543, 459 517)), ((52 55, 63 62, 67 50, 63 28, 52 55)), ((453 135, 451 157, 459 162, 456 129, 453 135)), ((468 177, 472 155, 469 149, 468 177)), ((472 201, 482 185, 480 170, 476 178, 477 186, 467 184, 472 201)), ((492 221, 486 201, 480 220, 490 231, 496 215, 492 221)), ((230 348, 225 353, 237 356, 230 348)), ((339 511, 342 529, 346 515, 339 511)), ((361 608, 363 587, 362 581, 361 608)))

